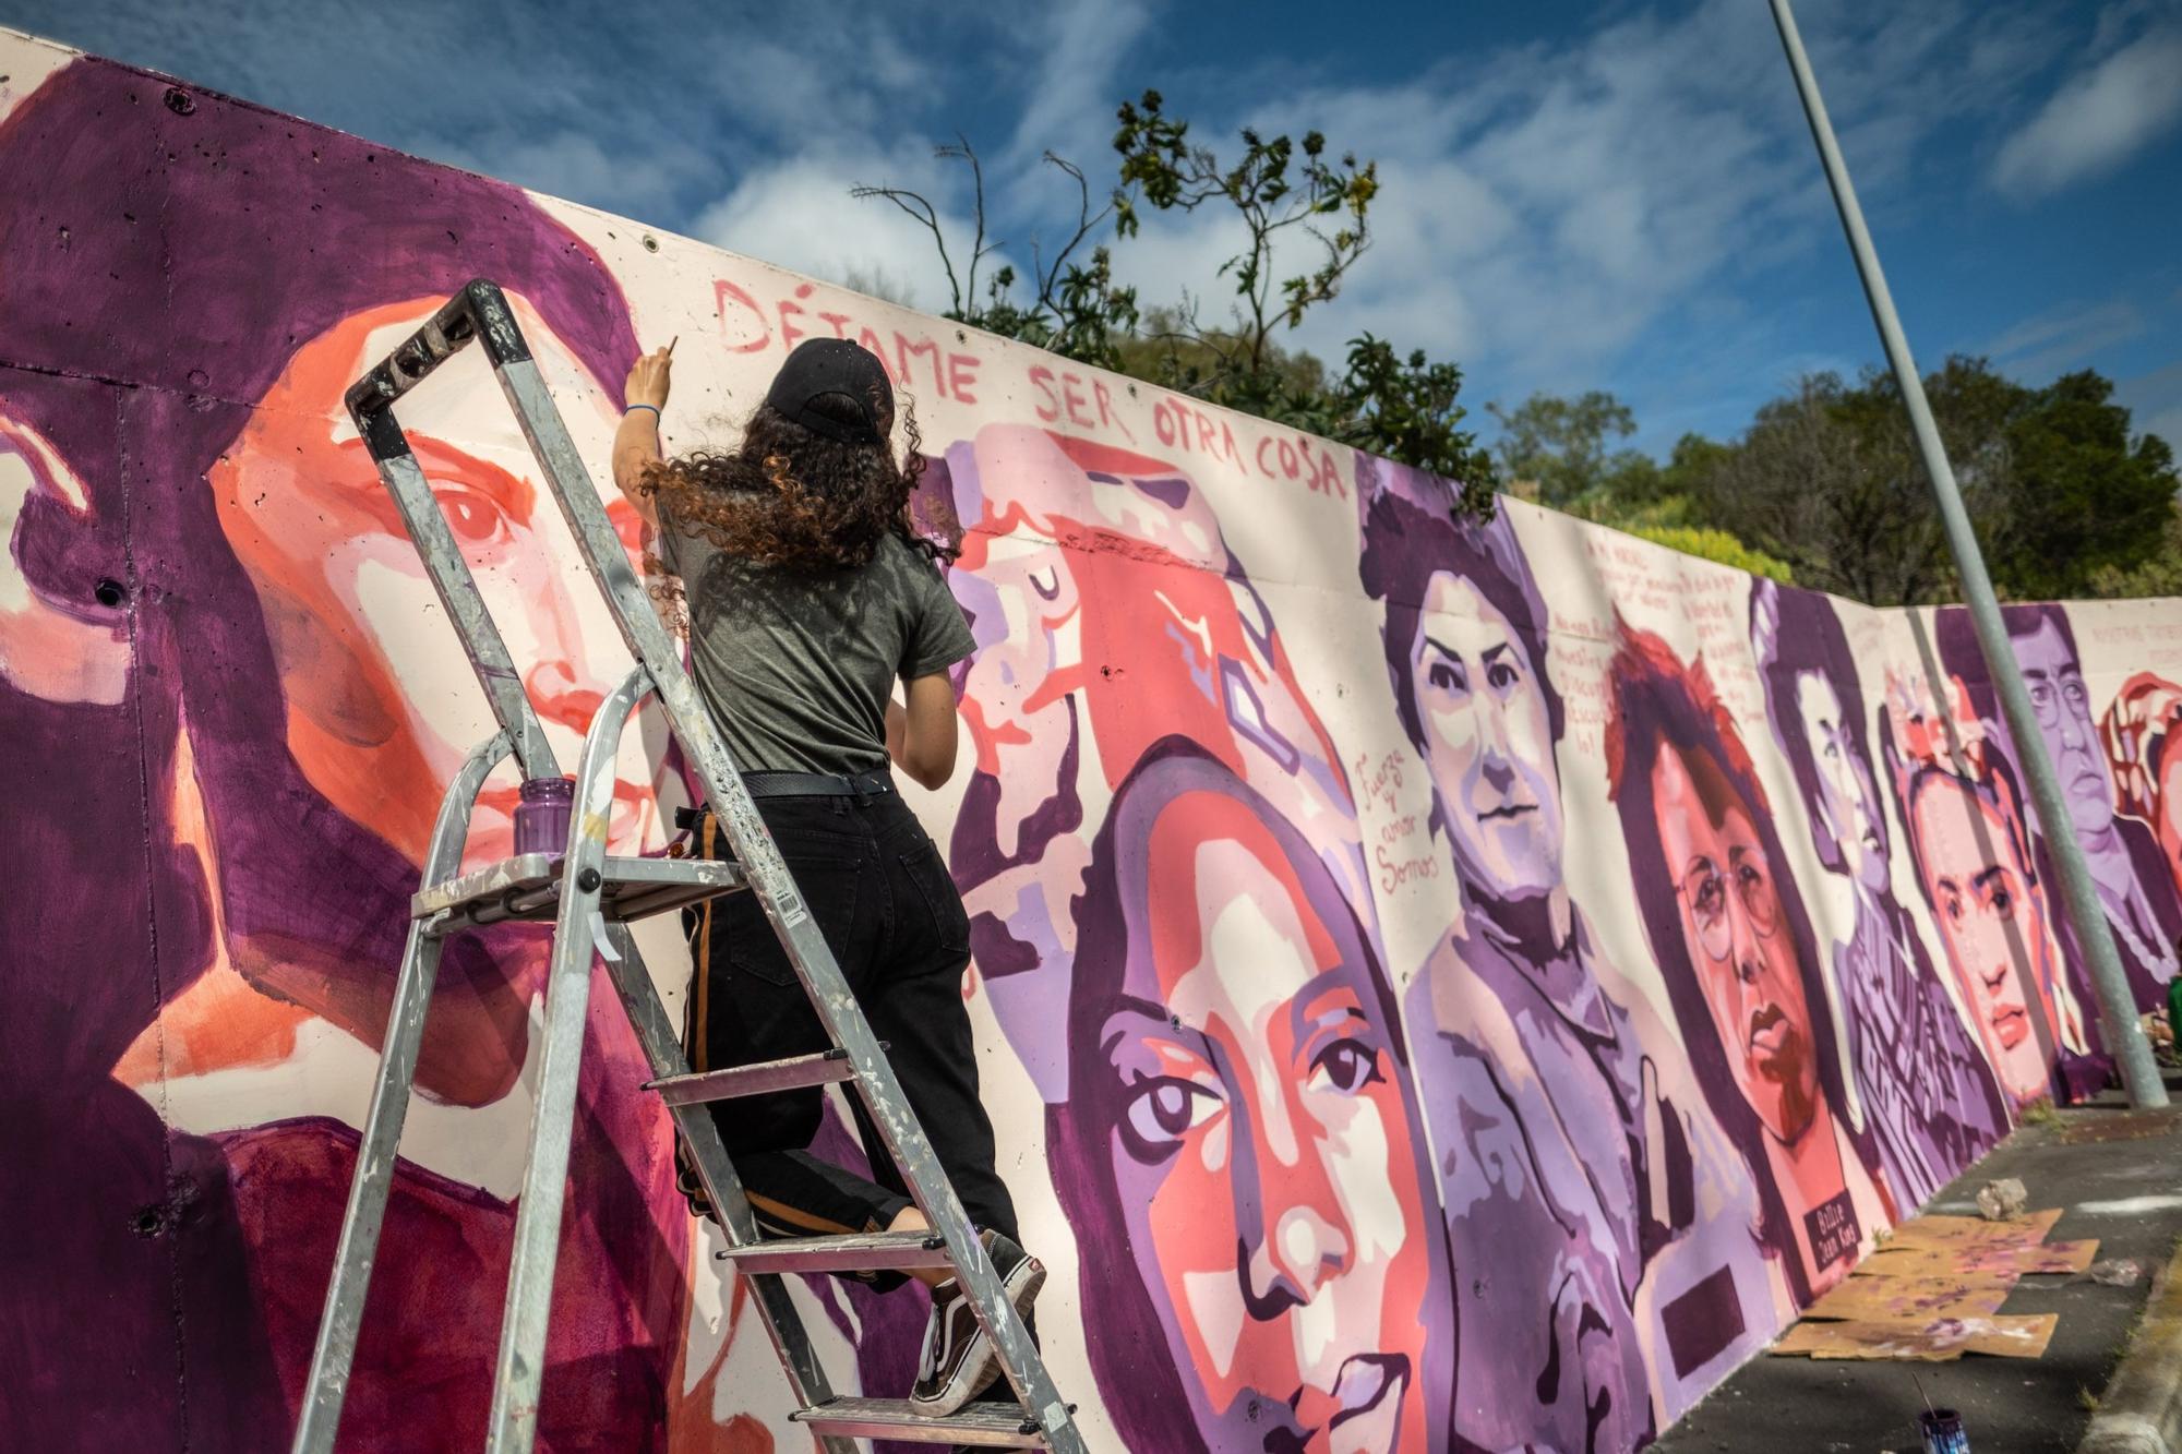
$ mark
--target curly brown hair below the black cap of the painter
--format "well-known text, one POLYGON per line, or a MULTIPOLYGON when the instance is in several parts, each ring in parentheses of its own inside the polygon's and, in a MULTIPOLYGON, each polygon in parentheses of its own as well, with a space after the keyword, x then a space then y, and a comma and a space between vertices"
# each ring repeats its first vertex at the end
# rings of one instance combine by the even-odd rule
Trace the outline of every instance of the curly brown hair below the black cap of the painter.
MULTIPOLYGON (((847 397, 823 395, 810 408, 827 417, 840 410, 842 424, 860 421, 847 397)), ((759 404, 740 445, 657 461, 637 489, 659 500, 674 528, 753 565, 799 574, 862 570, 888 533, 927 559, 954 559, 956 550, 910 526, 910 496, 925 458, 916 415, 906 404, 901 428, 908 450, 895 463, 886 443, 827 439, 759 404)))

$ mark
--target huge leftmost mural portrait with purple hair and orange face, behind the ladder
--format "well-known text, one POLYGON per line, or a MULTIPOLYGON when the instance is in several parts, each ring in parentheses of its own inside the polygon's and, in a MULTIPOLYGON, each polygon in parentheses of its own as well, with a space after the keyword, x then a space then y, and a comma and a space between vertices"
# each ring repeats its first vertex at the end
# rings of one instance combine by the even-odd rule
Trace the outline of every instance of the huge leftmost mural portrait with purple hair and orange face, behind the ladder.
MULTIPOLYGON (((35 762, 9 817, 33 882, 9 899, 46 908, 0 917, 0 1159, 37 1249, 0 1266, 26 1338, 0 1423, 41 1447, 177 1430, 284 1447, 301 1393, 406 899, 443 784, 487 731, 343 389, 478 273, 517 301, 600 458, 635 358, 598 258, 515 188, 164 96, 76 61, 0 122, 0 336, 35 365, 0 371, 7 454, 35 461, 11 472, 31 485, 9 546, 44 613, 89 631, 0 629, 98 648, 81 672, 0 681, 11 760, 35 762), (251 1094, 192 1094, 212 1070, 251 1094), (113 1395, 175 1367, 177 1336, 185 1389, 131 1375, 113 1395)), ((620 664, 541 533, 528 450, 482 365, 401 413, 535 664, 532 701, 574 742, 620 664)), ((631 843, 642 771, 618 801, 631 843)), ((478 854, 504 851, 504 808, 484 799, 478 854)), ((362 1445, 482 1434, 519 1159, 504 1175, 480 1148, 521 1142, 543 950, 526 930, 447 945, 419 1068, 436 1105, 410 1122, 349 1393, 362 1445)), ((548 1373, 541 1434, 663 1447, 690 1231, 642 1061, 607 1024, 548 1354, 580 1367, 548 1373)))

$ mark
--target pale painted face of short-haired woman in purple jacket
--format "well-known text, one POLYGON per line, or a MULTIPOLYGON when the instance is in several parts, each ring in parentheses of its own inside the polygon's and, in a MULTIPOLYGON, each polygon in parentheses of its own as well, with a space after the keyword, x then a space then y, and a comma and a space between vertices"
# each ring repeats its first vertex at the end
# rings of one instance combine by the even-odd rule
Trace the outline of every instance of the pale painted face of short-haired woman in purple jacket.
POLYGON ((1468 581, 1431 576, 1410 648, 1425 766, 1462 880, 1492 899, 1560 886, 1560 777, 1536 664, 1468 581))

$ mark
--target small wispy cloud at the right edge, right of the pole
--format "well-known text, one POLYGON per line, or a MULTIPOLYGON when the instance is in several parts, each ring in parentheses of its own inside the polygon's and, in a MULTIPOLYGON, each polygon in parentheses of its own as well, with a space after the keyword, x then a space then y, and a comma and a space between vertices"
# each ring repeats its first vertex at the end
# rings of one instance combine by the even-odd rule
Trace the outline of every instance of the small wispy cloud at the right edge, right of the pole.
POLYGON ((2077 72, 2001 144, 1992 183, 2031 201, 2106 175, 2182 120, 2182 31, 2151 31, 2077 72))

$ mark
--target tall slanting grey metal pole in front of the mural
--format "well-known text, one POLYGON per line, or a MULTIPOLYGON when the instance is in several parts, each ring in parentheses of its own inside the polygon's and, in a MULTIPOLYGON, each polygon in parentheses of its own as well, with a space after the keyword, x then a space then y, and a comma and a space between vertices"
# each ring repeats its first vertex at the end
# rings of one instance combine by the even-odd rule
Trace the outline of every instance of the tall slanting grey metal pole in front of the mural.
POLYGON ((2001 603, 1992 596, 1992 576, 1986 574, 1986 557, 1970 533, 1970 517, 1962 509, 1962 491, 1955 487, 1955 469, 1940 448, 1940 428, 1931 421, 1931 404, 1925 400, 1925 382, 1909 356, 1909 341, 1903 336, 1901 319, 1894 314, 1894 295, 1887 293, 1885 273, 1879 271, 1879 253, 1872 249, 1872 234, 1863 227, 1863 207, 1857 205, 1857 190, 1848 181, 1848 166, 1842 148, 1833 140, 1833 122, 1826 120, 1826 103, 1818 94, 1818 79, 1811 74, 1811 57, 1802 52, 1802 35, 1796 33, 1796 15, 1789 0, 1772 0, 1774 24, 1781 26, 1781 44, 1787 48, 1789 70, 1796 72, 1796 90, 1802 94, 1802 111, 1811 120, 1811 140, 1826 164, 1826 181, 1833 186, 1833 205, 1842 212, 1842 229, 1848 247, 1857 255, 1857 273, 1863 277, 1863 297, 1872 303, 1872 323, 1879 325, 1879 341, 1887 349, 1894 380, 1901 384, 1903 404, 1909 408, 1909 426, 1916 430, 1918 452, 1925 456, 1925 474, 1931 476, 1931 493, 1940 504, 1940 522, 1946 526, 1946 544, 1955 552, 1955 570, 1962 572, 1962 598, 1970 607, 1977 624, 1977 644, 1986 655, 1986 670, 2001 696, 2001 716, 2007 718, 2007 734, 2016 742, 2023 773, 2029 777, 2031 801, 2038 806, 2038 825, 2045 830, 2047 847, 2053 849, 2053 871, 2060 878, 2062 904, 2075 941, 2090 958, 2090 978, 2099 989, 2099 1009, 2106 1020, 2106 1044, 2121 1061, 2121 1081, 2130 1092, 2130 1103, 2138 1107, 2167 1105, 2167 1085, 2151 1061, 2151 1046, 2136 1022, 2136 998, 2130 980, 2121 972, 2121 956, 2114 952, 2114 932, 2106 923, 2106 908, 2099 906, 2099 891, 2090 882, 2090 865, 2084 862, 2084 845, 2075 838, 2075 823, 2069 819, 2069 803, 2060 792, 2060 777, 2047 755, 2045 736, 2031 712, 2029 692, 2023 688, 2023 672, 2016 668, 2016 653, 2007 644, 2007 624, 2001 620, 2001 603))

